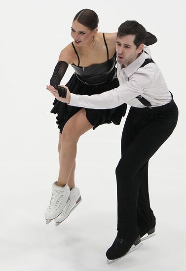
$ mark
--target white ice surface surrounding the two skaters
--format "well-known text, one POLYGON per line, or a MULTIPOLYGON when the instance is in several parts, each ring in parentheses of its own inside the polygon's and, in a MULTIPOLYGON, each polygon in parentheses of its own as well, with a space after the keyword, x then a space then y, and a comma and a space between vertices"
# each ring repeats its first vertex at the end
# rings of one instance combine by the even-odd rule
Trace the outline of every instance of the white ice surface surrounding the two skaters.
MULTIPOLYGON (((3 271, 185 270, 186 4, 177 1, 0 1, 0 267, 3 271), (155 34, 150 46, 179 107, 178 125, 149 163, 156 236, 106 265, 116 235, 114 169, 124 125, 103 125, 78 143, 76 185, 82 203, 59 227, 44 210, 58 175, 53 96, 45 90, 63 47, 72 41, 74 15, 97 12, 100 32, 137 20, 155 34)), ((72 75, 70 67, 62 80, 72 75)))

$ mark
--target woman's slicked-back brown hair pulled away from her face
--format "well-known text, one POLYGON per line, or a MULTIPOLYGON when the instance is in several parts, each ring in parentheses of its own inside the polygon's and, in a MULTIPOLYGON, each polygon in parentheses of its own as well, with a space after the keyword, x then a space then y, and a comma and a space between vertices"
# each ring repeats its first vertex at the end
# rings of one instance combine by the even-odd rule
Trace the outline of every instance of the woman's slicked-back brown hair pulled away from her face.
POLYGON ((86 26, 90 31, 98 27, 99 18, 95 11, 85 8, 80 10, 74 17, 74 21, 86 26))

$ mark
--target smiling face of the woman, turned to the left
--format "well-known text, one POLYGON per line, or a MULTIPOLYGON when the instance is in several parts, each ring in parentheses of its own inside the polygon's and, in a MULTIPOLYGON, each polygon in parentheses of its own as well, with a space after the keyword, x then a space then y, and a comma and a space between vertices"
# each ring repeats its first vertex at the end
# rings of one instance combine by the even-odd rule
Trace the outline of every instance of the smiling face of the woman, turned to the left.
POLYGON ((73 21, 71 36, 77 46, 87 45, 92 41, 94 31, 90 31, 86 26, 73 21))

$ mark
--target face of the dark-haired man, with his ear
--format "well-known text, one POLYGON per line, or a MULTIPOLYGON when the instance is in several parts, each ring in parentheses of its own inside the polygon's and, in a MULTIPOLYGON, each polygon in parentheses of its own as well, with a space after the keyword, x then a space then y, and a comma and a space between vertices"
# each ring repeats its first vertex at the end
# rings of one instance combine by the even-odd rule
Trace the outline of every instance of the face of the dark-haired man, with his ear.
POLYGON ((116 51, 117 51, 117 62, 124 67, 131 64, 140 53, 143 51, 144 44, 140 44, 137 48, 134 44, 135 35, 126 35, 122 37, 117 37, 116 41, 116 51))

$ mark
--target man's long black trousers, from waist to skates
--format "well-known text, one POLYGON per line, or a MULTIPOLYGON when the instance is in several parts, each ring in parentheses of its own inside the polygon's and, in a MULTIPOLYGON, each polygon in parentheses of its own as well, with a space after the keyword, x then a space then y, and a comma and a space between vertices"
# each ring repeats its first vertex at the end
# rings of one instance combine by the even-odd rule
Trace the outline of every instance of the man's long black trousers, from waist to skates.
POLYGON ((129 110, 116 168, 119 237, 135 240, 155 226, 149 202, 149 159, 172 134, 177 120, 178 107, 173 100, 151 109, 129 110))

